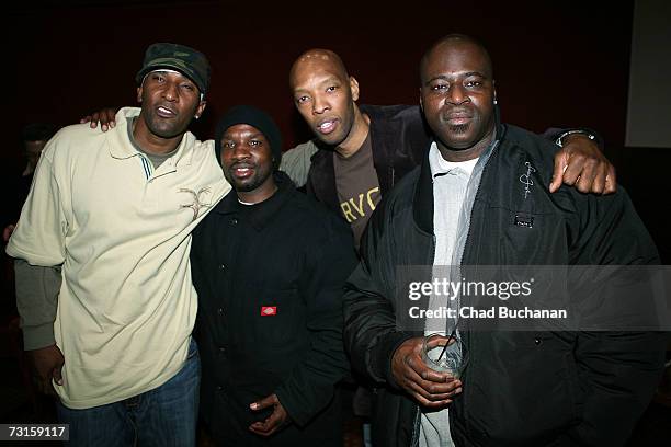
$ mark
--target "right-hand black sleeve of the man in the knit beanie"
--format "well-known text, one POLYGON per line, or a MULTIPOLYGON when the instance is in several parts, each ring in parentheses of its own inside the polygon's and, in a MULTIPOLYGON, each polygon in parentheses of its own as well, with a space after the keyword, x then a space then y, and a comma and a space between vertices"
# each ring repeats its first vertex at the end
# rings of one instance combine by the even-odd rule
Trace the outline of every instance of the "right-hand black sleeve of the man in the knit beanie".
POLYGON ((356 255, 344 221, 329 216, 328 234, 306 245, 300 293, 307 306, 310 349, 275 390, 292 421, 304 426, 333 397, 334 385, 350 370, 342 344, 342 294, 356 255))

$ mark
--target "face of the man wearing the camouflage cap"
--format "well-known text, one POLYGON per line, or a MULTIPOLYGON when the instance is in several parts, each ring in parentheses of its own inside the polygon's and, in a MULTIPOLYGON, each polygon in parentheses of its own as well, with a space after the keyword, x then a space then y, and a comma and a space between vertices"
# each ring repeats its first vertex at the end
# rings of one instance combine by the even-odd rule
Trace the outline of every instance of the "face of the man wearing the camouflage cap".
POLYGON ((198 88, 185 76, 167 70, 148 73, 137 89, 141 102, 139 139, 174 139, 189 128, 194 117, 205 110, 198 88))

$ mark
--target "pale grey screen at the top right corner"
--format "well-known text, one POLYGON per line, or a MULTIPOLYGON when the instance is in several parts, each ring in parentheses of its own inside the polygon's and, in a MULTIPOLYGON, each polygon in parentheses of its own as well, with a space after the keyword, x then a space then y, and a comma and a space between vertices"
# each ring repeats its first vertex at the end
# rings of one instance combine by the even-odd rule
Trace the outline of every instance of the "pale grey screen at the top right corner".
POLYGON ((636 0, 625 146, 671 149, 671 0, 636 0))

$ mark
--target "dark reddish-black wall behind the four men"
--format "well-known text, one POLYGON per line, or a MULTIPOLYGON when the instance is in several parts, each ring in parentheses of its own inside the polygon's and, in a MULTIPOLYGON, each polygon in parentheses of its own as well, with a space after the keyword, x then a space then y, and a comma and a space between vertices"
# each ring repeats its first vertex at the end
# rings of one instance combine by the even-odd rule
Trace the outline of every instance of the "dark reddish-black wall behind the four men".
POLYGON ((15 164, 26 123, 67 125, 105 105, 135 104, 134 76, 153 42, 186 44, 211 60, 208 108, 192 128, 196 135, 211 138, 228 106, 251 103, 275 116, 286 149, 309 137, 287 87, 303 50, 339 53, 360 82, 361 102, 417 103, 423 50, 462 32, 492 54, 504 121, 536 131, 589 126, 601 133, 619 182, 671 262, 671 220, 663 216, 671 148, 624 147, 633 0, 227 3, 29 0, 9 7, 1 165, 15 164))

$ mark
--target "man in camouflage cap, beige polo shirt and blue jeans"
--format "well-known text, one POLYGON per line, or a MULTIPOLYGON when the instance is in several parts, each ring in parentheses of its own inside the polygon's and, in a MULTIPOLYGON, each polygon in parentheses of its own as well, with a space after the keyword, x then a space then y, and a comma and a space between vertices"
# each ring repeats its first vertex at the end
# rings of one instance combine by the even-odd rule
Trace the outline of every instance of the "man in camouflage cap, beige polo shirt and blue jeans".
POLYGON ((54 378, 73 445, 195 444, 191 231, 230 185, 187 131, 205 108, 205 56, 153 44, 137 82, 139 115, 122 108, 106 134, 75 125, 47 144, 7 249, 25 348, 54 378), (54 299, 39 293, 58 276, 56 320, 41 320, 32 305, 54 299))

